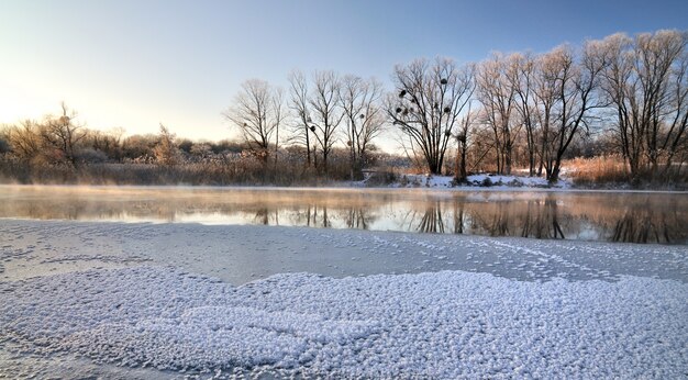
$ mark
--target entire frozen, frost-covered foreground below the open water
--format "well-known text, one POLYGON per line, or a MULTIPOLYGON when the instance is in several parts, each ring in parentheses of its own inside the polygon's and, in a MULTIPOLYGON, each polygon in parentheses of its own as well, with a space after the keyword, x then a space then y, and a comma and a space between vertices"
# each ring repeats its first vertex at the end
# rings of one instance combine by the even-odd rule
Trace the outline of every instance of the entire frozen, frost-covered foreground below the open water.
POLYGON ((688 372, 685 246, 14 220, 0 242, 0 376, 688 372))

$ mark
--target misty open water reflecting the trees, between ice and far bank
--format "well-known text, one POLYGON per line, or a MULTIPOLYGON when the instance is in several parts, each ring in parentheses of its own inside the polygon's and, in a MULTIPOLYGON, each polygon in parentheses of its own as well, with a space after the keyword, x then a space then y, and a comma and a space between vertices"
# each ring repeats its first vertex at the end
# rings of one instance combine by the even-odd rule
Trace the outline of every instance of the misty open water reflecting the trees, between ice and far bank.
POLYGON ((0 186, 0 217, 688 244, 688 194, 0 186))

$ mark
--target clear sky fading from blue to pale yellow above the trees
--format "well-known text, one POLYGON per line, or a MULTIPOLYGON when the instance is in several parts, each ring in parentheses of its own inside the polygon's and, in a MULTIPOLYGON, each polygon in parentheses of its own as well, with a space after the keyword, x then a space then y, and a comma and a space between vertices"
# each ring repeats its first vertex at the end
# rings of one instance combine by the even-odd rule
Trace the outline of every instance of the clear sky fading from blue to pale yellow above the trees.
POLYGON ((0 0, 0 124, 78 112, 90 128, 235 136, 251 78, 376 77, 419 57, 479 62, 615 32, 688 30, 688 1, 0 0))

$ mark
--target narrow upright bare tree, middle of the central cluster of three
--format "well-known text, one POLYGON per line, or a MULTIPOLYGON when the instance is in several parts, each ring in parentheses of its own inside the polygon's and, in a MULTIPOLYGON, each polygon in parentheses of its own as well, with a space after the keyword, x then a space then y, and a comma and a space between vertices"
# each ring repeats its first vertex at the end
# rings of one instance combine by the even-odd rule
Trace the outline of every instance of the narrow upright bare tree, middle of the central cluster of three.
POLYGON ((344 119, 340 109, 339 94, 341 81, 333 71, 313 74, 313 91, 309 97, 309 105, 313 112, 311 131, 322 152, 322 165, 328 174, 328 157, 336 141, 335 133, 344 119))

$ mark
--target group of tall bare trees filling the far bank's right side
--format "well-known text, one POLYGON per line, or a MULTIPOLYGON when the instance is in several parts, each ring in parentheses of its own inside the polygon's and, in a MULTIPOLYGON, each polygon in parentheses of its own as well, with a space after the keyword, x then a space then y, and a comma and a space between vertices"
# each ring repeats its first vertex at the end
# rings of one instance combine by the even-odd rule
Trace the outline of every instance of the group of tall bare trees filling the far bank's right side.
POLYGON ((688 34, 614 34, 580 48, 493 54, 475 65, 417 60, 393 72, 387 112, 432 172, 456 141, 466 166, 525 167, 556 181, 565 158, 609 155, 626 180, 685 181, 688 34))

